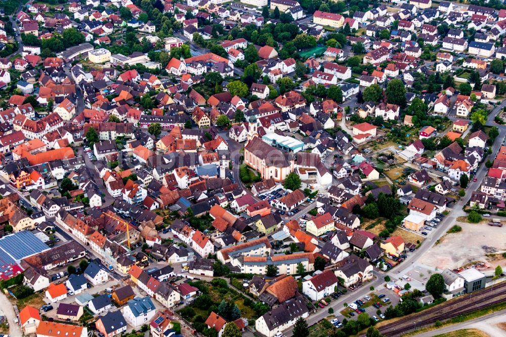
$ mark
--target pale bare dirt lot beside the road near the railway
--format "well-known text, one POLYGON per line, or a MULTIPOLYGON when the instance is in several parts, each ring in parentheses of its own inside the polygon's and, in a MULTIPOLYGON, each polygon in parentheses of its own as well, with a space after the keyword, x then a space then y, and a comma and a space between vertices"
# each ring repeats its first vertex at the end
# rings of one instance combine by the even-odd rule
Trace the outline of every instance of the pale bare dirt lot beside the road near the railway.
POLYGON ((495 268, 504 265, 506 259, 506 227, 492 227, 485 222, 469 224, 456 222, 462 231, 446 234, 439 243, 429 249, 420 263, 438 269, 457 269, 472 262, 483 262, 495 268))

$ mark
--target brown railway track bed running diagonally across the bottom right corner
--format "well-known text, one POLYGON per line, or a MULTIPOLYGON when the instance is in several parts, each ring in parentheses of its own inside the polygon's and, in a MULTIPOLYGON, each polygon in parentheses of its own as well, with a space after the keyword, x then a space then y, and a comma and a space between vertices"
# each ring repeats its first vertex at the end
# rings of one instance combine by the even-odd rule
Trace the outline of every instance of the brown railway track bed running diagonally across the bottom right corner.
POLYGON ((468 314, 495 304, 506 302, 506 282, 501 282, 441 305, 412 314, 400 320, 381 326, 379 332, 386 336, 399 336, 415 328, 423 327, 459 315, 468 314))

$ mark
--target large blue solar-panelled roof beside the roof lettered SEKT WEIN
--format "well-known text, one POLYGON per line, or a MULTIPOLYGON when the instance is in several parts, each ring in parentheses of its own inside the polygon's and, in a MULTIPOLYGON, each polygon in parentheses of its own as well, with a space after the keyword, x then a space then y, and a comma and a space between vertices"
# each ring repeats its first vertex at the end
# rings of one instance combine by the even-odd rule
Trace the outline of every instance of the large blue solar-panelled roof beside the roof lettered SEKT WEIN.
POLYGON ((2 263, 20 261, 26 257, 48 250, 49 247, 30 231, 21 231, 0 238, 0 260, 2 263))

